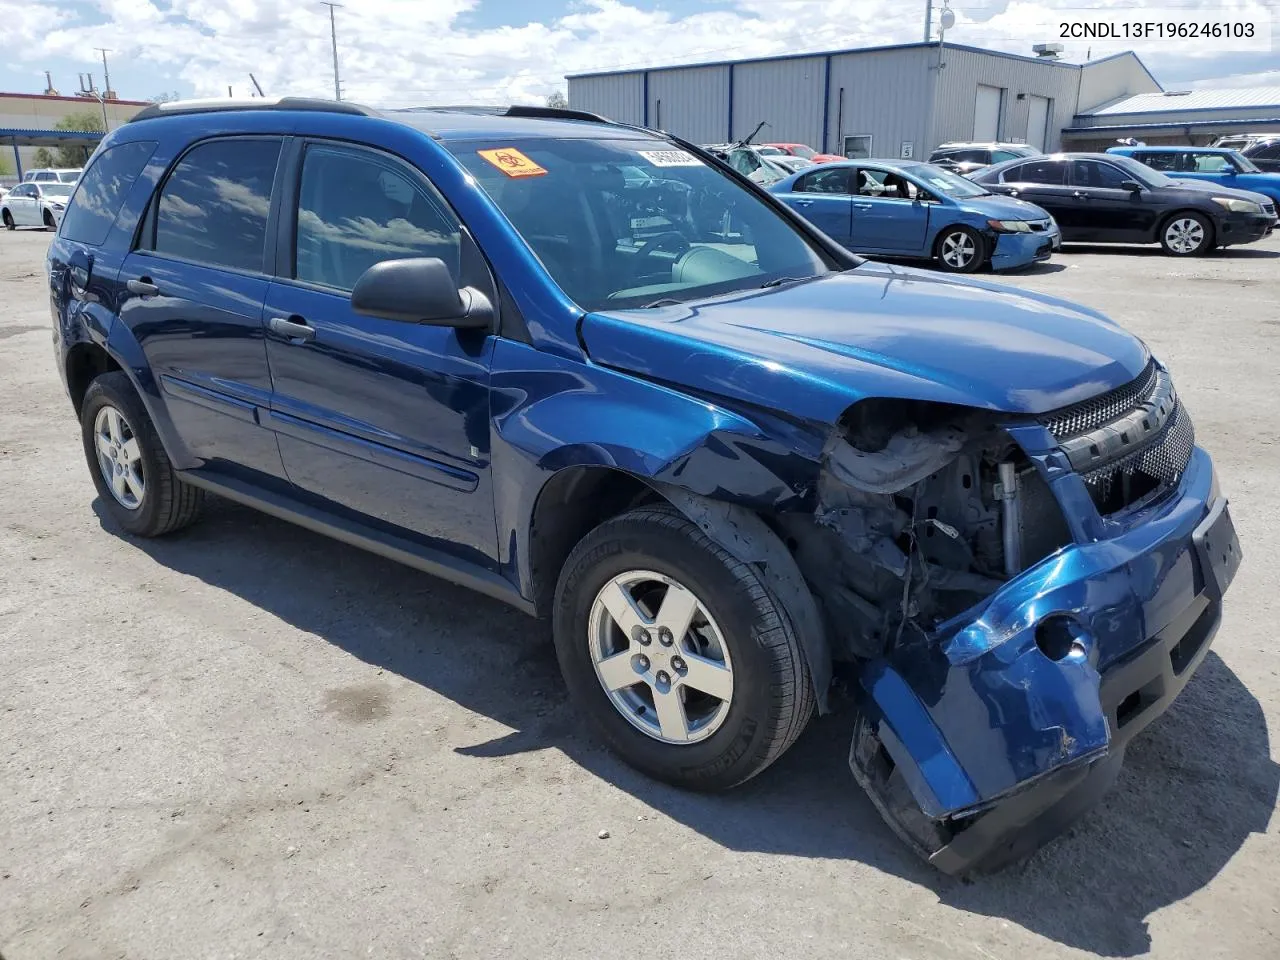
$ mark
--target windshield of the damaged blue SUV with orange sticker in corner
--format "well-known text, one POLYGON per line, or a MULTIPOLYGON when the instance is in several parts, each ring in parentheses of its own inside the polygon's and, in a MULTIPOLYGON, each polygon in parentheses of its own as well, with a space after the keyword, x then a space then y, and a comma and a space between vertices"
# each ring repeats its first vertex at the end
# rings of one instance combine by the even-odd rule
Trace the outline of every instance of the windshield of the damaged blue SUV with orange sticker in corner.
POLYGON ((666 141, 447 146, 586 310, 698 300, 829 271, 764 200, 666 141))

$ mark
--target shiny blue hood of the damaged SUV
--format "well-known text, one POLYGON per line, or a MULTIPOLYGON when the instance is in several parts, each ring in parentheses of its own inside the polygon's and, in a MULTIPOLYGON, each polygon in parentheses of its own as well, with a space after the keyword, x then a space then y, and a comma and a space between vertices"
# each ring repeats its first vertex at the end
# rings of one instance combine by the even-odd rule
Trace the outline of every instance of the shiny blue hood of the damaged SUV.
POLYGON ((596 364, 833 424, 865 397, 1041 413, 1133 380, 1146 346, 1102 314, 867 262, 698 303, 589 314, 596 364))

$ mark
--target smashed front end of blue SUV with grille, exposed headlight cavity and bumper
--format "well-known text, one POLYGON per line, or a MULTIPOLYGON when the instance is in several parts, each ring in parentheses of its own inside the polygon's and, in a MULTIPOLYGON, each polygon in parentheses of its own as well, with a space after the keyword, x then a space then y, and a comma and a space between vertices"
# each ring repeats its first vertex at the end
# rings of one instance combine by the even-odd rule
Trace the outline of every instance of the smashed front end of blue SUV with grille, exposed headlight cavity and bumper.
POLYGON ((837 659, 850 767, 947 873, 1059 832, 1208 649, 1239 544, 1152 364, 1039 417, 863 401, 778 520, 837 659))

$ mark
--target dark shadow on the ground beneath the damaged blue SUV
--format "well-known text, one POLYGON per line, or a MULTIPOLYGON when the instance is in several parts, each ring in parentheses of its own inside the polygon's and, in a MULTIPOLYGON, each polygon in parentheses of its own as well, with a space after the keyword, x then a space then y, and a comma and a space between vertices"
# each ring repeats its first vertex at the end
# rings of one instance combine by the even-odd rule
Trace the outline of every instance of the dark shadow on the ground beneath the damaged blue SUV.
POLYGON ((1170 712, 1130 746, 1094 815, 1023 864, 957 881, 909 854, 856 788, 845 759, 847 704, 745 786, 680 791, 623 765, 582 730, 544 622, 218 498, 201 524, 157 540, 123 534, 100 500, 95 511, 105 530, 157 563, 513 731, 457 744, 460 754, 484 762, 554 748, 727 849, 858 860, 955 909, 1103 956, 1147 952, 1146 918, 1217 876, 1267 828, 1280 792, 1260 704, 1210 653, 1170 712))

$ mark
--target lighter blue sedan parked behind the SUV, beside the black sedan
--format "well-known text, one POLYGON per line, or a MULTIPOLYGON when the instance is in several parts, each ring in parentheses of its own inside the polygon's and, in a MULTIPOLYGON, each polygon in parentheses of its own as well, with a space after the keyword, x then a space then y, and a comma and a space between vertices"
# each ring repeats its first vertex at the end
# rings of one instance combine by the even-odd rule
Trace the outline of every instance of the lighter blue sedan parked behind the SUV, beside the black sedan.
POLYGON ((1057 224, 1038 206, 933 164, 831 163, 769 191, 856 253, 933 260, 952 273, 1028 266, 1061 244, 1057 224))

